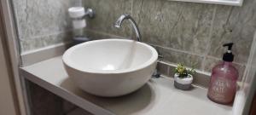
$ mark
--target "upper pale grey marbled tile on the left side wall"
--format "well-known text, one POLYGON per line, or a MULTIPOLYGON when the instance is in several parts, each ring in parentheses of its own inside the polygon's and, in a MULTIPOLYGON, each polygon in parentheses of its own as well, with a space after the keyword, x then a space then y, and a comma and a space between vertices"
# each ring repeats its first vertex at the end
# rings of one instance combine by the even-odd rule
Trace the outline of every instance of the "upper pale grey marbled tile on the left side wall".
POLYGON ((42 37, 71 29, 71 0, 13 0, 20 39, 42 37))

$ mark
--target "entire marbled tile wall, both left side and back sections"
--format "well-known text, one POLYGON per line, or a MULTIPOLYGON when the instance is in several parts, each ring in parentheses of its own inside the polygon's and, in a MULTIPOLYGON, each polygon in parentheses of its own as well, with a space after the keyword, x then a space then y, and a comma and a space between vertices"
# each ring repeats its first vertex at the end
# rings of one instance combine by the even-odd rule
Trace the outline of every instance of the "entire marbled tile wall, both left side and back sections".
MULTIPOLYGON (((71 40, 72 26, 67 8, 72 0, 13 0, 22 52, 71 40)), ((234 42, 236 67, 244 72, 253 32, 256 1, 244 0, 242 7, 170 0, 83 0, 96 10, 87 19, 86 34, 93 39, 131 37, 131 26, 113 27, 120 14, 131 14, 142 32, 143 42, 159 50, 167 63, 210 72, 222 58, 222 44, 234 42)), ((169 72, 166 71, 166 72, 169 72)))

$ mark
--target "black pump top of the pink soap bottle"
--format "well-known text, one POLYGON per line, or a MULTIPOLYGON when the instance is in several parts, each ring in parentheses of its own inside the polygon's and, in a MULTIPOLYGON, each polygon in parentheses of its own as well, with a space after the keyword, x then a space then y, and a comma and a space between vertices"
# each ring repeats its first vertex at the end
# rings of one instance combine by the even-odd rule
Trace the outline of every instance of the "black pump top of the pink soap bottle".
POLYGON ((234 55, 231 52, 234 43, 224 43, 223 47, 228 47, 228 51, 223 55, 224 61, 232 62, 234 60, 234 55))

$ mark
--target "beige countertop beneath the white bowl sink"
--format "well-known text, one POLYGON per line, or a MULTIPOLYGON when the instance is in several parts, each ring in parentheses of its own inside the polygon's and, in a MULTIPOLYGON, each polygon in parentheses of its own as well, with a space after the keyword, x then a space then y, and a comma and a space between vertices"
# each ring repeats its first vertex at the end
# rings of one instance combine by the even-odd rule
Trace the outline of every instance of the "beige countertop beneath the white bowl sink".
POLYGON ((172 78, 154 78, 131 95, 102 98, 85 93, 68 78, 61 57, 20 68, 24 78, 67 101, 99 115, 228 115, 232 106, 207 99, 207 89, 175 89, 172 78))

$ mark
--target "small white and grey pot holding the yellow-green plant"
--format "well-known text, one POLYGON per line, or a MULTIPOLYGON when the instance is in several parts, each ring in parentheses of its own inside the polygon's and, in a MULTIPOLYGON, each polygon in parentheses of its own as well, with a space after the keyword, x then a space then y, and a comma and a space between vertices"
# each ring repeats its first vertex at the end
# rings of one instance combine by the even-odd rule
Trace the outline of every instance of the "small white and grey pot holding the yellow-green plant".
POLYGON ((174 74, 174 86, 177 89, 188 90, 191 88, 191 84, 193 82, 193 76, 189 74, 188 78, 179 78, 178 74, 174 74))

